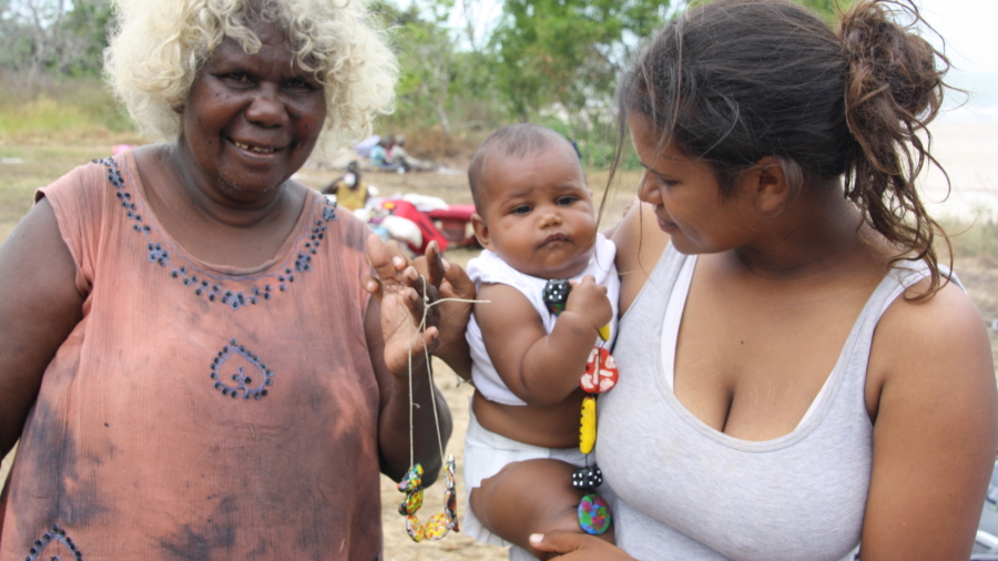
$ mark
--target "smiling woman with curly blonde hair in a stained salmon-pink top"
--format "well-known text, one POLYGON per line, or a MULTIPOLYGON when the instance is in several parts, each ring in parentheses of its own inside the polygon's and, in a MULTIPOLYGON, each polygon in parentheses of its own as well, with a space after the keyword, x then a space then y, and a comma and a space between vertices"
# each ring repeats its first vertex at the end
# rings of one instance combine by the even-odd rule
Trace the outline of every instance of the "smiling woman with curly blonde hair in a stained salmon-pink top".
POLYGON ((393 57, 358 1, 116 9, 111 83, 172 140, 39 190, 0 248, 0 559, 378 559, 378 471, 440 468, 451 332, 411 337, 415 272, 376 245, 365 280, 369 232, 291 176, 366 135, 393 57))

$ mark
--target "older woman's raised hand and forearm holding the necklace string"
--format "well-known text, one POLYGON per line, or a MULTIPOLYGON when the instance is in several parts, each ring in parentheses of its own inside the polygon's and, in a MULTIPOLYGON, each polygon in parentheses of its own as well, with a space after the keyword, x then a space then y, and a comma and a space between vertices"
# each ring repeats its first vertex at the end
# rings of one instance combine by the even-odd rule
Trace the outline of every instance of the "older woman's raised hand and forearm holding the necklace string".
MULTIPOLYGON (((373 295, 366 329, 371 363, 381 391, 378 425, 381 471, 399 479, 408 470, 413 462, 409 456, 411 430, 415 461, 422 465, 425 483, 430 484, 440 470, 440 447, 446 446, 450 437, 451 421, 450 409, 430 379, 424 349, 432 350, 441 339, 454 338, 450 332, 460 322, 448 322, 444 332, 436 326, 417 332, 418 320, 422 316, 422 298, 414 286, 421 288, 421 277, 405 261, 396 257, 398 255, 386 251, 376 235, 370 236, 368 258, 378 278, 366 280, 373 295), (411 408, 411 429, 410 401, 415 404, 411 408)), ((439 279, 439 275, 432 276, 439 279)), ((428 289, 430 299, 434 299, 436 288, 429 285, 428 289)))

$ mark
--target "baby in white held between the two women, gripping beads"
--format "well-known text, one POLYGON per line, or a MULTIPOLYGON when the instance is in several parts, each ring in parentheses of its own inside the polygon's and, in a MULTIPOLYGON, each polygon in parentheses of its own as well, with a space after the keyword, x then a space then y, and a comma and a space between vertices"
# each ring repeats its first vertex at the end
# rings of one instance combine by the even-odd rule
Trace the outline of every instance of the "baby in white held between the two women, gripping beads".
POLYGON ((615 248, 597 232, 576 149, 550 129, 499 129, 476 152, 468 178, 471 224, 486 251, 468 264, 479 303, 466 334, 475 396, 465 532, 512 543, 512 560, 543 559, 531 533, 582 531, 589 491, 573 486, 573 473, 578 484, 577 468, 592 461, 579 448, 580 378, 593 347, 609 349, 617 333, 615 248), (571 279, 560 315, 544 304, 551 279, 571 279))

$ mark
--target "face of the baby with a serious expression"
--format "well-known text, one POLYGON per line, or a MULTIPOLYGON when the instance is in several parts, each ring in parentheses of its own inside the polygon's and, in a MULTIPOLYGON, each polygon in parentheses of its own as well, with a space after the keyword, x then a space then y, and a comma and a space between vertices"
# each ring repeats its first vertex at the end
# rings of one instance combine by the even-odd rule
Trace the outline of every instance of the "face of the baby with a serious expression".
POLYGON ((487 249, 520 273, 568 278, 589 264, 597 225, 579 157, 564 143, 526 157, 492 155, 482 173, 487 249))

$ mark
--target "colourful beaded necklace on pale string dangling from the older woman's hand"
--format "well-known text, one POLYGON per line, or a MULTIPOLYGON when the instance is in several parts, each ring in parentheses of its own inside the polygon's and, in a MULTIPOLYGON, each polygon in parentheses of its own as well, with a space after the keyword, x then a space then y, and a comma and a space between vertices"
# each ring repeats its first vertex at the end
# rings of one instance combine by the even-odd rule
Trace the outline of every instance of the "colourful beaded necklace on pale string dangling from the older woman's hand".
MULTIPOLYGON (((422 318, 419 320, 419 326, 415 333, 409 334, 409 471, 406 472, 406 476, 399 481, 398 490, 400 492, 406 493, 406 499, 398 506, 398 513, 406 517, 406 533, 409 534, 409 538, 415 542, 420 542, 424 539, 437 541, 442 539, 450 530, 455 532, 459 532, 460 528, 458 526, 457 518, 457 491, 455 489, 455 461, 454 455, 449 455, 446 459, 444 458, 444 438, 440 434, 440 416, 437 412, 437 396, 434 391, 434 369, 432 364, 430 361, 429 349, 426 348, 426 345, 422 347, 424 359, 426 360, 426 369, 429 376, 430 382, 430 401, 434 407, 434 422, 437 428, 437 446, 440 450, 440 460, 445 466, 446 472, 446 483, 444 488, 444 511, 434 514, 426 524, 421 523, 419 519, 416 517, 416 511, 422 507, 422 466, 416 463, 416 445, 415 445, 415 422, 414 422, 414 409, 419 407, 413 399, 413 344, 416 340, 416 337, 419 336, 420 333, 426 330, 426 316, 429 313, 429 308, 436 306, 437 304, 444 302, 464 302, 464 303, 477 303, 479 300, 466 300, 460 298, 440 298, 437 302, 430 302, 429 296, 427 296, 427 285, 426 277, 422 275, 419 276, 422 280, 422 318)), ((409 325, 409 329, 413 329, 413 326, 409 325)))

